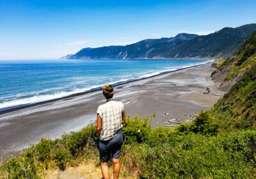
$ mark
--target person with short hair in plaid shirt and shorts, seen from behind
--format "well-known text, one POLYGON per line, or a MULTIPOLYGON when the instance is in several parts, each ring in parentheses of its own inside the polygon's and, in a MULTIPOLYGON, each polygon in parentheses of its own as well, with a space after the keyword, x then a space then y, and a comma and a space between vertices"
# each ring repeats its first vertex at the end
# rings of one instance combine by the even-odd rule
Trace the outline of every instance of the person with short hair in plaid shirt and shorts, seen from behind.
POLYGON ((114 90, 103 87, 106 103, 97 109, 97 136, 99 137, 100 167, 104 179, 109 178, 108 161, 113 160, 113 175, 120 173, 120 152, 123 143, 122 127, 125 123, 124 104, 113 100, 114 90))

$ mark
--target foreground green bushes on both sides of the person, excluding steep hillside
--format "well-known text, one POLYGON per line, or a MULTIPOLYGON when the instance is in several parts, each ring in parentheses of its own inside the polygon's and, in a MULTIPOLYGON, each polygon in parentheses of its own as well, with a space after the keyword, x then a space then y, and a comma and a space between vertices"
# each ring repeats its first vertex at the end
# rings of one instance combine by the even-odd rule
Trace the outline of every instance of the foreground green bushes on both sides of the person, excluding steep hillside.
MULTIPOLYGON (((255 130, 217 134, 211 121, 202 118, 197 118, 190 127, 191 131, 186 133, 180 132, 180 128, 152 129, 149 118, 128 119, 123 131, 121 176, 255 178, 255 130)), ((1 176, 43 178, 45 170, 76 166, 81 157, 98 160, 95 136, 95 125, 90 125, 81 132, 64 134, 62 139, 42 139, 4 162, 1 176)))

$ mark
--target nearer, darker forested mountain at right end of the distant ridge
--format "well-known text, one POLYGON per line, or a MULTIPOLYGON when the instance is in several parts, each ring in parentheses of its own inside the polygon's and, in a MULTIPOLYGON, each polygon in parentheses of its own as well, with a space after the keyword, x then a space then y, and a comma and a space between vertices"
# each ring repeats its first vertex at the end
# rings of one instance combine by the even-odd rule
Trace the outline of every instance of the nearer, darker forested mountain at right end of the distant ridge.
POLYGON ((248 36, 255 31, 256 24, 236 28, 225 27, 209 35, 202 35, 173 46, 164 57, 176 58, 223 58, 234 53, 248 36))

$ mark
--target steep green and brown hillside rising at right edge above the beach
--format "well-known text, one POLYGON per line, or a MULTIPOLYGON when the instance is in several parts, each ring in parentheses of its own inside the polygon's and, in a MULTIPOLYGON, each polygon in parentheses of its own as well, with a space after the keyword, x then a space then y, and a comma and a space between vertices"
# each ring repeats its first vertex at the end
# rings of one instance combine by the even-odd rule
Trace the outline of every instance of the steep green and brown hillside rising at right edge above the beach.
POLYGON ((256 31, 234 56, 218 63, 212 75, 223 71, 221 86, 237 82, 207 113, 225 130, 256 127, 256 31))

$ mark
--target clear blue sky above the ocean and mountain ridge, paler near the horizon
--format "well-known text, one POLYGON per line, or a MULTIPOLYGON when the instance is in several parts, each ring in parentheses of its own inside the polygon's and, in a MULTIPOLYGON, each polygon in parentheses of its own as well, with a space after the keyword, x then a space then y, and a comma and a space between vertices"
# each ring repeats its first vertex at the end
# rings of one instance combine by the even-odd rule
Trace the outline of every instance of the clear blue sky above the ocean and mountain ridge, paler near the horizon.
POLYGON ((85 47, 256 23, 255 0, 0 0, 0 59, 58 59, 85 47))

